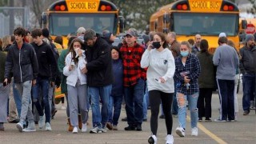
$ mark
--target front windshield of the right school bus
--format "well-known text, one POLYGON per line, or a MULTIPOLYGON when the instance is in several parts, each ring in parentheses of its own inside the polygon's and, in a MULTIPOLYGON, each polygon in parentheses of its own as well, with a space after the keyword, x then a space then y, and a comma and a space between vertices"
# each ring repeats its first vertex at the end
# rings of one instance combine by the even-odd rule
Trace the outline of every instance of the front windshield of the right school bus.
POLYGON ((180 35, 238 34, 238 14, 174 13, 174 31, 180 35))

